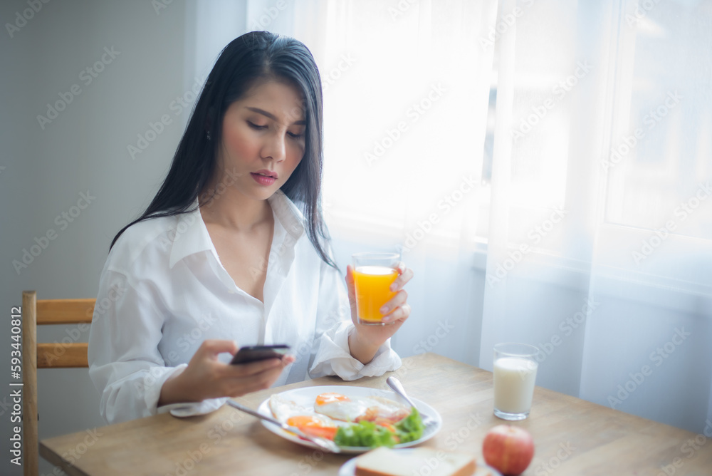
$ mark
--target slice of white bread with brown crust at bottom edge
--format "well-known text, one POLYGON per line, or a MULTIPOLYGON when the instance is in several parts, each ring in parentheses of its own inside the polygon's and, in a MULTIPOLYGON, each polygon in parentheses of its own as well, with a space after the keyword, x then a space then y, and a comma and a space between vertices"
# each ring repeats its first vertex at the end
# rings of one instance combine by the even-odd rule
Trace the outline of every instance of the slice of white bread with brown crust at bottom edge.
POLYGON ((434 448, 413 448, 412 450, 390 450, 380 447, 356 458, 356 476, 471 476, 488 474, 475 472, 475 459, 470 455, 435 450, 434 448))

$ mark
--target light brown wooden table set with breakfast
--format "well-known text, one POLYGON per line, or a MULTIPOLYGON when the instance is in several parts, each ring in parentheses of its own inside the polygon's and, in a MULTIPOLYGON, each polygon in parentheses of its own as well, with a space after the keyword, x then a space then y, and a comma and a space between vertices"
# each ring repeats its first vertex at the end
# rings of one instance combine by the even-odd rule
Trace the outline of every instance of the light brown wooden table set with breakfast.
MULTIPOLYGON (((290 388, 387 389, 385 379, 395 375, 410 395, 428 402, 443 418, 440 433, 424 446, 481 457, 485 433, 503 423, 492 413, 492 373, 433 353, 403 363, 382 377, 355 382, 317 378, 236 400, 257 408, 272 393, 290 388)), ((513 425, 527 428, 535 442, 534 460, 524 475, 712 475, 712 438, 545 388, 535 389, 530 418, 513 425)), ((163 414, 98 428, 93 435, 50 438, 40 443, 40 453, 69 475, 122 476, 335 475, 353 457, 291 443, 227 406, 199 417, 163 414)))

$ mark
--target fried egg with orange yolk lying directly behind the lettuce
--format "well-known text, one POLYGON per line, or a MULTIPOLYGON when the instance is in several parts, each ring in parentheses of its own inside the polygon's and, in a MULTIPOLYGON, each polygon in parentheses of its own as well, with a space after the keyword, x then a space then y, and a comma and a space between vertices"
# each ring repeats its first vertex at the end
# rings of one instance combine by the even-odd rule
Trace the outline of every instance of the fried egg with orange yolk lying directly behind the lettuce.
POLYGON ((334 392, 318 395, 314 410, 335 420, 355 423, 361 420, 395 423, 410 414, 409 407, 387 398, 349 398, 334 392))

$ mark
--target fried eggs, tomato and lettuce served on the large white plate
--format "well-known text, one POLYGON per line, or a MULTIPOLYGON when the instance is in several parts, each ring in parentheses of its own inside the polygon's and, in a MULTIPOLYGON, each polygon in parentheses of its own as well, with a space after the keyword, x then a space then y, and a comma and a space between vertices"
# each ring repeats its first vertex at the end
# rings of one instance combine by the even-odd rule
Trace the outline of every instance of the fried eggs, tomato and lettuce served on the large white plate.
POLYGON ((381 397, 349 398, 340 393, 322 393, 315 399, 314 408, 308 408, 272 395, 269 408, 277 420, 340 446, 409 443, 421 438, 424 430, 418 410, 381 397))

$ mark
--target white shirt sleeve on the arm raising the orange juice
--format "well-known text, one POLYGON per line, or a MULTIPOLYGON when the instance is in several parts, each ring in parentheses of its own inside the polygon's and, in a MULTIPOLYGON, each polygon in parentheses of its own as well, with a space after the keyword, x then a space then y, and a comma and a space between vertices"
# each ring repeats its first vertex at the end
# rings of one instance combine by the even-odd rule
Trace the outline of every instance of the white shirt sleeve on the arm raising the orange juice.
POLYGON ((319 283, 319 304, 316 322, 315 353, 310 365, 311 378, 335 375, 345 381, 361 377, 381 376, 401 366, 398 354, 388 339, 366 365, 351 356, 351 306, 346 284, 337 269, 322 263, 319 283))

